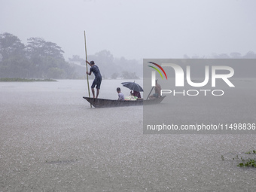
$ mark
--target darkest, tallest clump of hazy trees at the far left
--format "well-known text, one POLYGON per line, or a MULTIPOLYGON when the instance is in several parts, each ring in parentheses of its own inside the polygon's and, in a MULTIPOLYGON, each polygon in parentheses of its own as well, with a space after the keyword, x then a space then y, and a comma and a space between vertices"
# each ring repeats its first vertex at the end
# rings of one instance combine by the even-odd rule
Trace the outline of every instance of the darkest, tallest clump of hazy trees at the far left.
POLYGON ((8 32, 0 34, 0 78, 75 78, 64 51, 44 38, 23 44, 8 32))

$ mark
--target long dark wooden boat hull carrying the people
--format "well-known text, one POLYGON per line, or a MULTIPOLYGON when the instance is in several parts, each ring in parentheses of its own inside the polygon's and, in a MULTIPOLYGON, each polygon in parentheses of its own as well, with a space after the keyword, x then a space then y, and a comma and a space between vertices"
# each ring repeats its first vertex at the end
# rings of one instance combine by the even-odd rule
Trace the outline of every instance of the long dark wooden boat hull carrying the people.
POLYGON ((96 99, 91 97, 83 96, 84 99, 87 99, 87 102, 90 102, 91 105, 95 108, 111 108, 111 107, 123 107, 123 106, 134 106, 134 105, 153 105, 159 104, 163 101, 166 96, 161 96, 157 99, 137 99, 137 100, 111 100, 111 99, 96 99))

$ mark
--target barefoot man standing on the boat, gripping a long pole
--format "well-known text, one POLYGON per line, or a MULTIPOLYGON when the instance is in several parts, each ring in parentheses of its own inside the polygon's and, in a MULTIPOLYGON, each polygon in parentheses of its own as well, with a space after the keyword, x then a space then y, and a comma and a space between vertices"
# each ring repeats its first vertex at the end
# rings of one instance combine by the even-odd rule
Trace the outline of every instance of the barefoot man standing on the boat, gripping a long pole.
POLYGON ((100 74, 99 68, 98 68, 98 66, 95 65, 94 61, 90 61, 90 62, 87 61, 87 63, 90 65, 90 72, 89 73, 87 72, 87 75, 91 75, 92 72, 93 72, 93 74, 95 76, 93 84, 91 86, 92 93, 93 93, 93 98, 95 98, 95 93, 94 93, 94 87, 95 86, 96 86, 96 89, 97 89, 96 98, 98 98, 100 84, 102 83, 102 75, 100 74))

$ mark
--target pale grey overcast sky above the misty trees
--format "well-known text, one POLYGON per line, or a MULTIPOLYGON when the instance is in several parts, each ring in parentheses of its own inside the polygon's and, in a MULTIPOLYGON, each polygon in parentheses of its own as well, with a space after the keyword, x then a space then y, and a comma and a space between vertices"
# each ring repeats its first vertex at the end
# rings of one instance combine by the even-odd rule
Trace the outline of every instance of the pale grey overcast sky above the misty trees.
MULTIPOLYGON (((256 52, 254 0, 0 0, 0 33, 44 38, 66 59, 109 50, 126 59, 256 52)), ((88 58, 90 59, 90 58, 88 58)))

